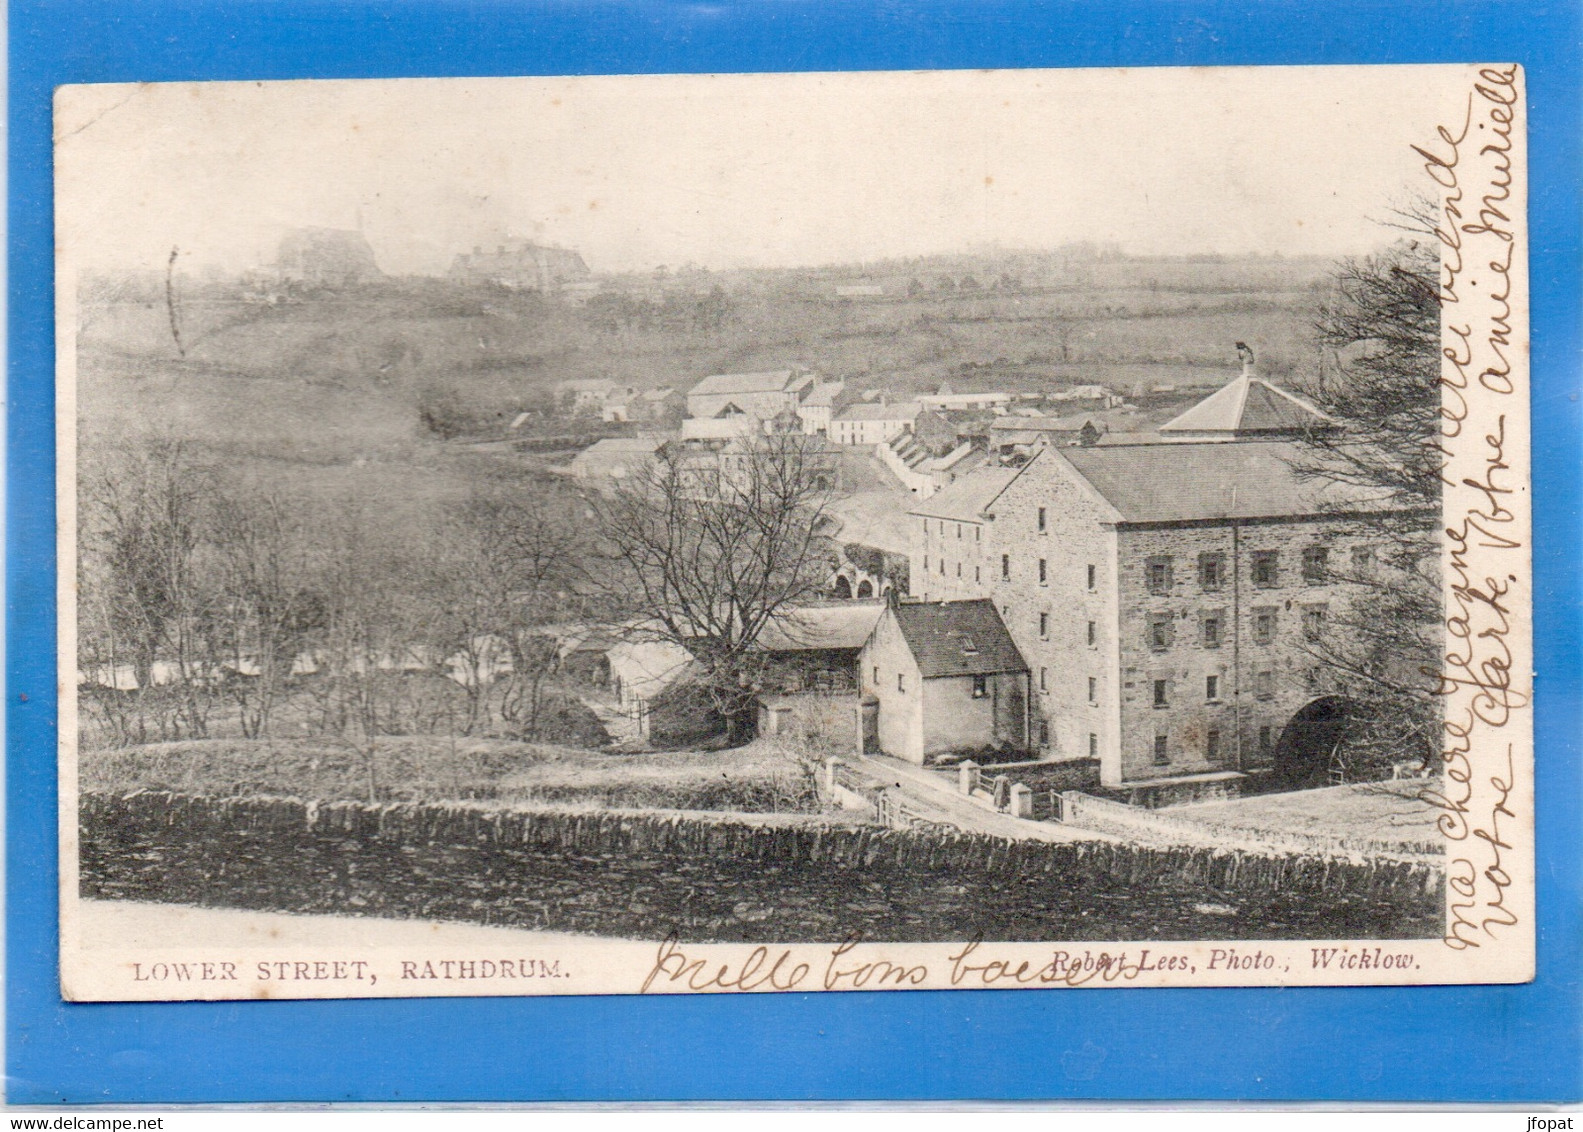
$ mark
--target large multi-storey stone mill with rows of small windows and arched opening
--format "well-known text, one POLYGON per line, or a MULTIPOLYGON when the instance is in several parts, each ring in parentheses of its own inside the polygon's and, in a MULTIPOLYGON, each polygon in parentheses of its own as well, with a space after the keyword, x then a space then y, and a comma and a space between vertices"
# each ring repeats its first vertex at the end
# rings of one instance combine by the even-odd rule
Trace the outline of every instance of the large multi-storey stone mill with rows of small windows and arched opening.
POLYGON ((1384 568, 1293 470, 1308 421, 1246 440, 1238 404, 1192 418, 1197 440, 1040 448, 913 508, 913 592, 994 603, 1032 671, 1032 746, 1143 801, 1325 781, 1344 701, 1311 641, 1360 592, 1342 576, 1384 568))

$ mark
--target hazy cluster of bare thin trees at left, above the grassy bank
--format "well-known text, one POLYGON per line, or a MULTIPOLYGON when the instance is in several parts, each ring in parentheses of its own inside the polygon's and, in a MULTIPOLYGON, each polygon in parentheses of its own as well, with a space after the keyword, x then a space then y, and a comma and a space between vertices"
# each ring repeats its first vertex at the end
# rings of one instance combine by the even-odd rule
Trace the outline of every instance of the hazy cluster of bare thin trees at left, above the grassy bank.
POLYGON ((93 743, 540 738, 579 587, 578 511, 484 483, 393 529, 377 500, 261 486, 179 442, 79 483, 78 670, 93 743))

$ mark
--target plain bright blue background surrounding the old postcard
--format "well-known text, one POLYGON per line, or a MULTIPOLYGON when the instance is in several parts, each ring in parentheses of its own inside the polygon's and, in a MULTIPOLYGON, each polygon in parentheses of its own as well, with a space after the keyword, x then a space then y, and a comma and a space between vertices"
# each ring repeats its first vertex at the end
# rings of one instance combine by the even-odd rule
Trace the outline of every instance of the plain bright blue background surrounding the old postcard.
MULTIPOLYGON (((1559 1100, 1580 1078, 1577 3, 14 0, 11 1104, 1559 1100), (51 90, 63 82, 1517 60, 1531 146, 1539 982, 1412 990, 65 1005, 55 967, 51 90)), ((1073 112, 1083 112, 1073 108, 1073 112)))

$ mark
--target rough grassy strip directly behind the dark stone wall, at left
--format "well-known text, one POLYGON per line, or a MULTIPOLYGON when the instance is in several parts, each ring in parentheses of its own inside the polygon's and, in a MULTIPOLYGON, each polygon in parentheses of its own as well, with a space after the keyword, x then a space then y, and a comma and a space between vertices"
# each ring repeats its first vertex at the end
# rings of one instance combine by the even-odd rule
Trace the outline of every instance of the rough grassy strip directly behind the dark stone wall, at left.
MULTIPOLYGON (((84 792, 233 798, 283 795, 367 801, 369 762, 328 739, 190 739, 84 750, 84 792)), ((565 807, 815 812, 809 769, 768 743, 719 752, 605 754, 502 739, 402 736, 380 741, 380 801, 491 800, 565 807)))

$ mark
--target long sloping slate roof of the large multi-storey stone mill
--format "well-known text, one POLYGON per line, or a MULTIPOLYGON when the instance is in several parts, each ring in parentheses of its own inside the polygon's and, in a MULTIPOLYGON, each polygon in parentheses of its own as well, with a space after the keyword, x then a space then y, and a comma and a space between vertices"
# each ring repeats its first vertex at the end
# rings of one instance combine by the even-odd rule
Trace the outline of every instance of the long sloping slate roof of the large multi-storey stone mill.
POLYGON ((1040 458, 1072 464, 1122 522, 1320 515, 1346 502, 1336 486, 1298 478, 1293 462, 1312 456, 1292 440, 1050 448, 1040 458))

